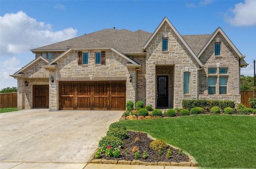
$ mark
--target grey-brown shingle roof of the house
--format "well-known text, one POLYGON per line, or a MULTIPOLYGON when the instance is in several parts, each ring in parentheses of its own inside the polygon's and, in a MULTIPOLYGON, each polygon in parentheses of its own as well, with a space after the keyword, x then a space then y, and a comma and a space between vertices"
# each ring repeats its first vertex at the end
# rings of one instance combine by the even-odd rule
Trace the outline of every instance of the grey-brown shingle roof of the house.
MULTIPOLYGON (((142 47, 150 38, 152 33, 138 30, 129 31, 126 29, 103 29, 93 33, 74 37, 51 45, 38 47, 34 50, 63 50, 67 47, 113 47, 121 53, 142 52, 142 47)), ((206 35, 182 35, 189 47, 196 55, 204 47, 211 34, 206 35)))

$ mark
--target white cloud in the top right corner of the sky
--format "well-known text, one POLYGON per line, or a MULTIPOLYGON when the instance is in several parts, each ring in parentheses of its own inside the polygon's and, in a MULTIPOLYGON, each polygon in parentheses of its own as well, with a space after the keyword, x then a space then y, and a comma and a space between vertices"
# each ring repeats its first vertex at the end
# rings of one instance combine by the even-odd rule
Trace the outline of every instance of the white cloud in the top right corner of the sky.
POLYGON ((235 4, 234 9, 226 12, 224 20, 232 26, 256 25, 256 0, 245 0, 244 3, 235 4))

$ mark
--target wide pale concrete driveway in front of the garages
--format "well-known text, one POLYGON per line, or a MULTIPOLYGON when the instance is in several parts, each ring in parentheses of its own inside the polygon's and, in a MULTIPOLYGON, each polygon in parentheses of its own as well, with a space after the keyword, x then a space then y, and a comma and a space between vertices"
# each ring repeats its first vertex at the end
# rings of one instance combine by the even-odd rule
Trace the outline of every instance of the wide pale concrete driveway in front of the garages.
POLYGON ((0 114, 0 161, 87 163, 124 111, 20 110, 0 114))

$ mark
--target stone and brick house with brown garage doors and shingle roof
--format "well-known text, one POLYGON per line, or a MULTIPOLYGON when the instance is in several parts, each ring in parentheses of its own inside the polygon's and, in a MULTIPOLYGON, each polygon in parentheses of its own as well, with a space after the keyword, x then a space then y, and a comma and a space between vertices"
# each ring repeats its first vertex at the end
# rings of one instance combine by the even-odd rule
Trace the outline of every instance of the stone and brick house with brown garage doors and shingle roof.
POLYGON ((180 35, 165 17, 154 33, 103 29, 31 50, 36 57, 10 75, 18 108, 125 110, 126 102, 182 108, 182 99, 240 103, 240 68, 248 64, 217 28, 180 35))

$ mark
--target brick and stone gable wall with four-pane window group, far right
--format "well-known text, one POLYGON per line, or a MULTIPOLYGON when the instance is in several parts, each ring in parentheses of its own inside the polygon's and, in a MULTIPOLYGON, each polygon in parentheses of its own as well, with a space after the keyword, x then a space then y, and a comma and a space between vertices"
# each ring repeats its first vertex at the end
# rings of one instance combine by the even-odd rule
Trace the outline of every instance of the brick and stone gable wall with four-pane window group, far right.
POLYGON ((232 100, 236 104, 241 102, 240 96, 240 68, 239 56, 231 49, 224 37, 217 33, 216 37, 210 42, 206 50, 199 57, 204 68, 199 72, 199 98, 211 100, 232 100), (215 56, 215 38, 220 37, 221 49, 220 56, 215 56), (217 68, 216 74, 208 75, 208 68, 217 68), (219 68, 228 68, 227 74, 219 74, 219 68), (208 77, 216 77, 216 94, 208 94, 208 77), (228 77, 227 94, 219 93, 219 77, 228 77))

